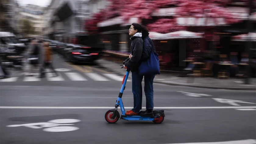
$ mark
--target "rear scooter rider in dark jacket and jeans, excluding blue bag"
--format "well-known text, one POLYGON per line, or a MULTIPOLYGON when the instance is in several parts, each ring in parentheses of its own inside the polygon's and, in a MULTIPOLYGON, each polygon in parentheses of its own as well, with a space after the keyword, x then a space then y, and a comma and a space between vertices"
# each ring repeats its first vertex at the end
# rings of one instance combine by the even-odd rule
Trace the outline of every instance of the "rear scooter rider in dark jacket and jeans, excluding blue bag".
MULTIPOLYGON (((143 39, 143 51, 141 56, 141 61, 146 61, 150 57, 151 51, 157 54, 155 46, 151 38, 148 37, 148 29, 146 26, 141 26, 142 39, 143 39)), ((153 101, 153 81, 155 75, 145 75, 144 76, 144 92, 146 96, 146 111, 141 111, 141 115, 153 114, 154 101, 153 101)))

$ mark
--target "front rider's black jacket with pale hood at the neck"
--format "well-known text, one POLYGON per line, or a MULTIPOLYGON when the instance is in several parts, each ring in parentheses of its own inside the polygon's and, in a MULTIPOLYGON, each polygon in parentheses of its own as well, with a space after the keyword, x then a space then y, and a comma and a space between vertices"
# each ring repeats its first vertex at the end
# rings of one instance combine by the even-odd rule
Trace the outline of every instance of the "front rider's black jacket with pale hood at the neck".
POLYGON ((131 43, 131 54, 133 55, 132 58, 127 58, 124 61, 124 65, 130 69, 131 72, 138 71, 138 67, 141 64, 141 55, 143 50, 143 40, 141 38, 141 33, 135 34, 133 37, 130 38, 132 40, 131 43))

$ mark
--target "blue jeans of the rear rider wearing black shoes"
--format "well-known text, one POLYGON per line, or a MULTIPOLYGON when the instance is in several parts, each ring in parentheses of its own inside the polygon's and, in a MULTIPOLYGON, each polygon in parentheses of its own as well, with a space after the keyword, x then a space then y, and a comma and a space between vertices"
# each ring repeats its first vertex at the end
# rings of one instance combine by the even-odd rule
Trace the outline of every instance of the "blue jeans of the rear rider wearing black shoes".
POLYGON ((155 75, 151 76, 144 76, 144 92, 146 96, 146 109, 153 109, 154 108, 154 101, 153 101, 153 81, 155 75))

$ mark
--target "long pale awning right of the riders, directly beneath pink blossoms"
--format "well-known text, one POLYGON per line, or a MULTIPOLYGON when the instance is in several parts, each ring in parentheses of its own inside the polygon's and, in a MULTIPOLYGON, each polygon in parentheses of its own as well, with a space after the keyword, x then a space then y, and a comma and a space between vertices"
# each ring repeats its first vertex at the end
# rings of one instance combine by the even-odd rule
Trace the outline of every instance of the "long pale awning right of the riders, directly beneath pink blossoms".
POLYGON ((180 26, 227 26, 224 18, 212 17, 176 17, 176 23, 180 26))

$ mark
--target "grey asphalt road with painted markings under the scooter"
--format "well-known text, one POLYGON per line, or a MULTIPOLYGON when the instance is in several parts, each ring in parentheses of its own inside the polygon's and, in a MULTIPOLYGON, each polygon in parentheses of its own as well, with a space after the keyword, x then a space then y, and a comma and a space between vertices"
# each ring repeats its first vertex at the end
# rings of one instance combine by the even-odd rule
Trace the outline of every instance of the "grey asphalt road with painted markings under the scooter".
MULTIPOLYGON (((78 68, 61 58, 56 58, 55 67, 80 75, 89 73, 87 66, 78 68)), ((47 78, 23 81, 24 76, 20 74, 16 81, 1 82, 1 144, 166 144, 238 140, 246 141, 237 144, 256 143, 248 140, 256 139, 255 91, 154 84, 154 105, 165 109, 162 124, 124 120, 108 124, 104 115, 108 108, 114 107, 121 81, 105 76, 104 73, 112 73, 106 69, 90 67, 100 69, 93 72, 108 81, 97 81, 87 75, 85 81, 74 81, 60 72, 61 81, 47 78), (58 126, 46 123, 48 121, 74 125, 58 126)), ((122 99, 126 110, 133 107, 131 82, 127 82, 122 99)))

